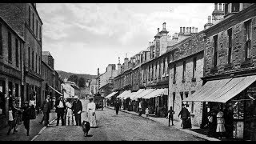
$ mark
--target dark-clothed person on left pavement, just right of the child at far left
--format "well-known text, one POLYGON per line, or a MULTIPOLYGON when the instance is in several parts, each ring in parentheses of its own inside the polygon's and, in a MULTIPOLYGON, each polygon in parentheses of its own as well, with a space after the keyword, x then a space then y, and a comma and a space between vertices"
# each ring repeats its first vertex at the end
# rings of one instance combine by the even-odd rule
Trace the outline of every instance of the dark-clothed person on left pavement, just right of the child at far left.
POLYGON ((26 129, 26 135, 29 136, 30 135, 30 114, 31 114, 31 108, 29 106, 29 102, 24 102, 25 106, 22 107, 22 110, 23 111, 23 115, 22 115, 22 118, 23 118, 23 123, 24 123, 24 126, 25 126, 25 129, 26 129))

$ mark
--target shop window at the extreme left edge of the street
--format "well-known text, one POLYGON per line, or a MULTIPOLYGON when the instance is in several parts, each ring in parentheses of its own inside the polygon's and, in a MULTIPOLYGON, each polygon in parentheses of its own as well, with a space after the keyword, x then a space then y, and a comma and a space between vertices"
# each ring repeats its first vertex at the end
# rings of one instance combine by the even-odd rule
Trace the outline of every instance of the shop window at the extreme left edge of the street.
POLYGON ((0 115, 4 115, 6 111, 6 82, 0 80, 0 115))

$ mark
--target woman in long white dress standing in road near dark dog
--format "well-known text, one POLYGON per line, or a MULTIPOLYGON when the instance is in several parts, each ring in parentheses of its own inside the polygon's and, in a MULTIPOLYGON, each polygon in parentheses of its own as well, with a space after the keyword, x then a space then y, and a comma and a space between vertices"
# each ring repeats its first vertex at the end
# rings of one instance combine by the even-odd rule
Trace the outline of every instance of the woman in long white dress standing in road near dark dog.
POLYGON ((88 114, 88 122, 90 122, 91 128, 96 128, 96 114, 95 114, 95 108, 96 105, 94 103, 94 98, 90 98, 90 103, 87 104, 87 114, 88 114))

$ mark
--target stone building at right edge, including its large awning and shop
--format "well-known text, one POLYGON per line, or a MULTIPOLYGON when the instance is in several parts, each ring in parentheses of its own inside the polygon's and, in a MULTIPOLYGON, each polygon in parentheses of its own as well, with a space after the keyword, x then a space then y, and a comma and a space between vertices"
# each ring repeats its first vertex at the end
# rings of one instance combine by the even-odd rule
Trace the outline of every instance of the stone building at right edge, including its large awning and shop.
POLYGON ((227 134, 256 140, 256 4, 225 3, 224 14, 204 30, 204 85, 185 101, 203 102, 202 125, 210 110, 231 108, 234 129, 227 134))

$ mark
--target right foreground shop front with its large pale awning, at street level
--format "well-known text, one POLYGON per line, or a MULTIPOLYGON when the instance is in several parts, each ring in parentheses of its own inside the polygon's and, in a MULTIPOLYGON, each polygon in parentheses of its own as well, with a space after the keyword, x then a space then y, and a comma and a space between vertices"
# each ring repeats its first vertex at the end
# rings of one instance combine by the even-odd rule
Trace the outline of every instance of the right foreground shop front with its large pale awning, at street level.
POLYGON ((206 82, 183 102, 203 102, 202 126, 211 110, 222 110, 226 135, 256 140, 256 75, 206 82), (231 126, 229 126, 231 125, 231 126))

